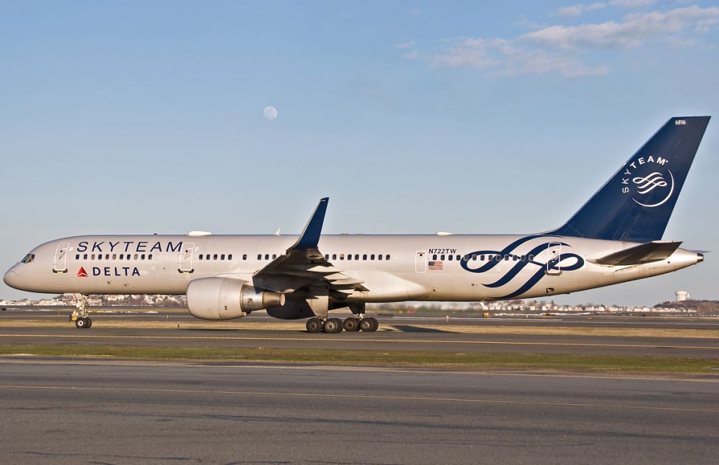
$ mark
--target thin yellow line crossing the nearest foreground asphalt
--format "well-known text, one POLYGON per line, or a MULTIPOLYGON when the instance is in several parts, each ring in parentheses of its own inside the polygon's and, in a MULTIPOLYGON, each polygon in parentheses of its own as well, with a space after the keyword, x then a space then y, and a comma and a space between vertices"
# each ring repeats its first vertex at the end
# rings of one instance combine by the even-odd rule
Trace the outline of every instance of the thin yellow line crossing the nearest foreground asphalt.
POLYGON ((192 390, 192 389, 145 389, 140 387, 110 387, 110 386, 29 386, 29 385, 0 385, 0 389, 21 390, 62 390, 62 391, 106 391, 106 392, 141 392, 166 394, 226 394, 226 395, 257 395, 263 397, 319 397, 340 399, 372 399, 372 400, 411 400, 424 402, 462 402, 487 404, 528 404, 528 405, 558 405, 564 407, 594 407, 594 408, 631 408, 636 410, 670 410, 679 412, 705 412, 719 413, 719 408, 677 407, 674 405, 631 405, 611 404, 599 402, 559 402, 552 400, 507 400, 492 398, 463 398, 463 397, 430 397, 418 395, 372 395, 372 394, 320 394, 317 392, 265 392, 265 391, 229 391, 229 390, 192 390))

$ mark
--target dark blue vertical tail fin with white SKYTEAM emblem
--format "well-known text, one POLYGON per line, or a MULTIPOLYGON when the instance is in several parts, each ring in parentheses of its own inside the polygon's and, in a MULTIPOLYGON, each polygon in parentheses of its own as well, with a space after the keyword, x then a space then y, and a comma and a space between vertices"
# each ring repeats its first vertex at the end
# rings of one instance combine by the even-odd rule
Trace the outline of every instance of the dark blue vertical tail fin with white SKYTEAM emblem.
POLYGON ((670 118, 567 224, 562 236, 661 239, 710 116, 670 118))

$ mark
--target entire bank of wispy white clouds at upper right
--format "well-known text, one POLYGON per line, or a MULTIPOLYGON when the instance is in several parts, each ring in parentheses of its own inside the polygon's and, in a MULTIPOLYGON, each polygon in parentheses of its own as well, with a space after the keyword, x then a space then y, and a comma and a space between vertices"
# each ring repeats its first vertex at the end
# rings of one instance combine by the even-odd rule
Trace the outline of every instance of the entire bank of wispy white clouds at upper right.
MULTIPOLYGON (((574 11, 603 8, 607 4, 638 7, 646 0, 595 2, 574 11), (601 6, 599 6, 601 5, 601 6)), ((572 6, 572 7, 574 7, 572 6)), ((565 7, 571 8, 571 7, 565 7)), ((559 11, 555 12, 559 16, 559 11)), ((564 78, 608 74, 602 63, 590 64, 600 49, 628 50, 647 43, 665 47, 700 45, 701 36, 719 24, 719 7, 687 6, 669 11, 626 14, 623 18, 577 26, 551 25, 509 39, 465 37, 449 42, 434 53, 408 50, 407 60, 426 60, 431 68, 477 68, 487 75, 542 75, 556 73, 564 78)), ((408 42, 409 43, 409 42, 408 42)), ((414 46, 414 43, 411 43, 414 46)))

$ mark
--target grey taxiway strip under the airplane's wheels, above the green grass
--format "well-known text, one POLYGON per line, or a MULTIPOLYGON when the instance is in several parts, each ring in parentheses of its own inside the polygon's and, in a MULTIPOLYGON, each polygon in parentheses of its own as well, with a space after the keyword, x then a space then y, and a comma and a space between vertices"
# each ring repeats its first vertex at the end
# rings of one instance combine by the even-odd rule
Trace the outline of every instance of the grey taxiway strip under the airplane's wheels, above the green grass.
MULTIPOLYGON (((137 317, 137 316, 135 316, 137 317)), ((128 321, 142 321, 142 316, 128 321)), ((4 316, 4 318, 7 318, 4 316)), ((47 318, 50 318, 48 316, 47 318)), ((57 316, 52 316, 57 319, 57 316)), ((309 334, 304 330, 193 327, 196 320, 178 320, 172 328, 103 327, 104 318, 93 316, 93 327, 78 330, 65 321, 60 327, 2 327, 0 344, 64 344, 145 347, 217 347, 257 349, 402 350, 513 354, 585 354, 719 358, 719 339, 631 336, 554 336, 541 334, 456 333, 422 328, 411 321, 380 318, 376 333, 309 334), (385 331, 381 331, 385 328, 385 331), (392 331, 389 331, 391 328, 392 331)), ((64 321, 64 320, 63 320, 64 321)), ((254 320, 257 321, 257 320, 254 320)), ((275 320, 277 321, 277 320, 275 320)), ((541 321, 541 320, 538 320, 541 321)), ((426 321, 421 324, 428 324, 426 321)), ((506 323, 506 322, 505 322, 506 323)), ((674 323, 676 324, 676 323, 674 323)), ((535 325, 536 326, 536 325, 535 325)), ((653 327, 653 326, 650 326, 653 327)))

